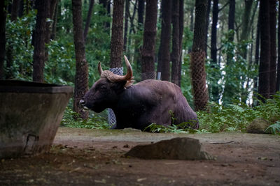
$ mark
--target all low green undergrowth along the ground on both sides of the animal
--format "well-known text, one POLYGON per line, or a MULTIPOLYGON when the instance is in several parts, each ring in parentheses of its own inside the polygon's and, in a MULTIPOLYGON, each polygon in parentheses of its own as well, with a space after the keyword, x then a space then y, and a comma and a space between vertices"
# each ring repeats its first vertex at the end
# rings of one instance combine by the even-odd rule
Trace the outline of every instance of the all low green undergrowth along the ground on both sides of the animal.
MULTIPOLYGON (((259 104, 255 107, 249 107, 243 102, 235 102, 234 104, 221 105, 216 102, 209 102, 207 111, 198 111, 197 116, 200 121, 200 129, 186 129, 181 123, 179 125, 162 126, 155 123, 149 125, 146 130, 151 132, 176 132, 176 133, 205 133, 205 132, 245 132, 246 127, 255 118, 264 118, 271 125, 267 128, 267 132, 279 134, 280 132, 280 92, 273 95, 272 98, 265 101, 258 100, 259 104)), ((172 115, 172 113, 170 113, 172 115)), ((78 118, 70 107, 66 108, 62 126, 81 127, 90 129, 108 129, 109 124, 106 120, 106 112, 103 116, 99 114, 90 114, 90 118, 86 121, 78 118)), ((188 123, 187 123, 188 124, 188 123)))

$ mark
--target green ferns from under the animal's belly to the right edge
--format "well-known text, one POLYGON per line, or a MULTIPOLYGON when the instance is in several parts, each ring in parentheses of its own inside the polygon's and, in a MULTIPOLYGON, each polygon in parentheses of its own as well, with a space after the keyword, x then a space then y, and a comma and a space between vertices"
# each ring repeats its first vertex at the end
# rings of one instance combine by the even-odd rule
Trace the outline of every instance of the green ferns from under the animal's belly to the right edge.
MULTIPOLYGON (((152 123, 145 130, 151 132, 176 132, 176 133, 205 133, 222 131, 245 132, 246 127, 255 118, 264 118, 272 123, 267 128, 267 132, 276 134, 280 132, 280 92, 273 95, 273 98, 262 102, 256 107, 249 107, 243 102, 236 101, 235 104, 221 105, 216 102, 209 102, 207 111, 198 111, 197 116, 200 121, 200 130, 185 128, 191 123, 181 123, 179 125, 162 126, 152 123), (274 124, 273 124, 274 123, 274 124)), ((173 118, 173 116, 172 116, 173 118)), ((172 119, 174 121, 174 118, 172 119)))

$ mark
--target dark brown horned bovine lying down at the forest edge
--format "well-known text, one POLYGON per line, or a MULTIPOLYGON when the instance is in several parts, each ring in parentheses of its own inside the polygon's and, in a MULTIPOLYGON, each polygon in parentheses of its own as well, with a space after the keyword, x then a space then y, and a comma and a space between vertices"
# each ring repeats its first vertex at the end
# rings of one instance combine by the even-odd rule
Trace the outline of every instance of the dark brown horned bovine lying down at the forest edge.
POLYGON ((151 123, 172 125, 185 123, 188 127, 199 127, 197 115, 191 109, 181 88, 176 84, 153 79, 133 85, 132 67, 125 56, 127 75, 115 75, 102 70, 101 78, 80 100, 83 109, 95 112, 113 109, 116 128, 133 127, 144 130, 151 123))

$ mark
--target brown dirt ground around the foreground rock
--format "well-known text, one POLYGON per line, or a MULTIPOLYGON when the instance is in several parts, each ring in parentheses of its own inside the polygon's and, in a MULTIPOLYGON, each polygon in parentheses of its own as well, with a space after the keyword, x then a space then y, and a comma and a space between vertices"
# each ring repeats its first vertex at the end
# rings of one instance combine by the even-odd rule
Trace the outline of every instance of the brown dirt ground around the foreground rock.
POLYGON ((280 185, 280 136, 59 128, 49 153, 0 162, 0 185, 280 185), (123 157, 138 144, 193 137, 215 160, 123 157))

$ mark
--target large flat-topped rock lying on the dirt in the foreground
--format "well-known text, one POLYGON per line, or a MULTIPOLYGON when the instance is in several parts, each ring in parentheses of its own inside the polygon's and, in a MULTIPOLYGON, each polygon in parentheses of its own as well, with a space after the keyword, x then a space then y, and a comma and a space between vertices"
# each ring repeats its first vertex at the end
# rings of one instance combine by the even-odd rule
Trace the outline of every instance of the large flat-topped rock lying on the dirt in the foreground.
POLYGON ((188 137, 159 141, 155 144, 134 146, 125 154, 126 157, 142 159, 169 160, 212 160, 206 152, 201 151, 200 141, 188 137))

